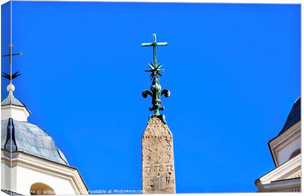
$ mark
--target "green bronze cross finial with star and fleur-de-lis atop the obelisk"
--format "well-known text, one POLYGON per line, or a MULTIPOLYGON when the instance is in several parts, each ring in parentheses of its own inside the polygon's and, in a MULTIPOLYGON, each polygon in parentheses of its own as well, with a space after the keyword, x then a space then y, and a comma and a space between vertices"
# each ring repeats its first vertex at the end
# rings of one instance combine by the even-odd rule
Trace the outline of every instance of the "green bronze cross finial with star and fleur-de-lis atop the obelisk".
POLYGON ((152 61, 150 61, 151 64, 148 64, 148 66, 151 68, 151 70, 146 70, 145 71, 145 72, 151 72, 151 74, 149 76, 149 77, 151 77, 151 80, 153 79, 152 85, 150 87, 151 91, 150 90, 144 90, 142 92, 143 98, 147 98, 148 95, 150 95, 151 98, 152 98, 152 105, 153 106, 150 107, 149 110, 150 111, 154 110, 154 114, 149 116, 148 123, 151 121, 151 119, 153 117, 157 117, 157 118, 161 119, 164 123, 166 123, 165 115, 159 114, 159 110, 164 110, 165 109, 165 107, 160 106, 160 104, 161 104, 160 97, 162 95, 165 95, 166 98, 170 97, 170 91, 168 89, 161 90, 161 86, 160 86, 159 81, 158 81, 158 76, 162 76, 160 74, 160 72, 163 72, 165 70, 160 69, 160 67, 162 65, 159 63, 159 61, 157 62, 156 46, 167 46, 167 45, 168 45, 167 42, 156 43, 156 34, 153 34, 153 43, 143 43, 143 44, 141 44, 142 47, 149 47, 149 46, 153 47, 153 63, 152 63, 152 61))

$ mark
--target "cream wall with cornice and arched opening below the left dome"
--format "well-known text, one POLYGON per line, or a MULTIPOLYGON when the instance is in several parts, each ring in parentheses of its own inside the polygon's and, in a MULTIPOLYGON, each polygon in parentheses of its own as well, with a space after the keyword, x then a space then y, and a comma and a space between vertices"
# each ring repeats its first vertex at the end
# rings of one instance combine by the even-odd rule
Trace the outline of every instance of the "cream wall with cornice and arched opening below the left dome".
POLYGON ((35 184, 33 186, 35 190, 40 187, 51 187, 56 195, 88 194, 86 185, 73 167, 17 151, 12 153, 12 170, 10 170, 9 157, 9 151, 1 149, 1 189, 30 195, 30 187, 35 184), (12 176, 12 187, 9 184, 11 181, 9 176, 12 176))

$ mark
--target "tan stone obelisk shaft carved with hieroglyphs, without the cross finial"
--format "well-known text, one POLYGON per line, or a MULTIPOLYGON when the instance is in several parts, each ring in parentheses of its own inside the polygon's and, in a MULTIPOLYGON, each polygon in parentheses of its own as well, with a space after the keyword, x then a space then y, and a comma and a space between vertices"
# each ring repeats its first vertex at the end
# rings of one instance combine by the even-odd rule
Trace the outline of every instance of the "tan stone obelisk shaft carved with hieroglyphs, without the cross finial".
POLYGON ((176 193, 172 133, 154 117, 142 137, 143 194, 176 193))

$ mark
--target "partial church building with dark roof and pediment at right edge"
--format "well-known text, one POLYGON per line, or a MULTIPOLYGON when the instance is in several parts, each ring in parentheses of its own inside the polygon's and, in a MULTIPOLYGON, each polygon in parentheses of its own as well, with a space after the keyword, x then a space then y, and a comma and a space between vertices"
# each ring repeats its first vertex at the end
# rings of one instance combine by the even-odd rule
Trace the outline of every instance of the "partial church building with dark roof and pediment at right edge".
POLYGON ((301 97, 268 143, 276 168, 255 180, 259 192, 301 192, 301 97))

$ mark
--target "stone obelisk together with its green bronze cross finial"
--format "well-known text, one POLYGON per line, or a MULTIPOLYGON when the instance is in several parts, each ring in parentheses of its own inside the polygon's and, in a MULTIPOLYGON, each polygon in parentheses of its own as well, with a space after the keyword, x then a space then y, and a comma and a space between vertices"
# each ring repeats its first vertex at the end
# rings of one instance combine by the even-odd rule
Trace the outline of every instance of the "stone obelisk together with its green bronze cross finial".
POLYGON ((176 193, 174 155, 172 133, 165 121, 165 116, 159 114, 161 107, 161 95, 170 96, 167 89, 161 90, 158 77, 162 76, 162 66, 156 60, 156 46, 167 46, 166 42, 156 43, 156 35, 153 34, 153 43, 145 43, 142 46, 153 46, 153 63, 149 64, 150 77, 153 80, 150 90, 144 90, 142 96, 152 97, 154 114, 149 116, 148 125, 142 137, 142 183, 143 194, 176 193))

